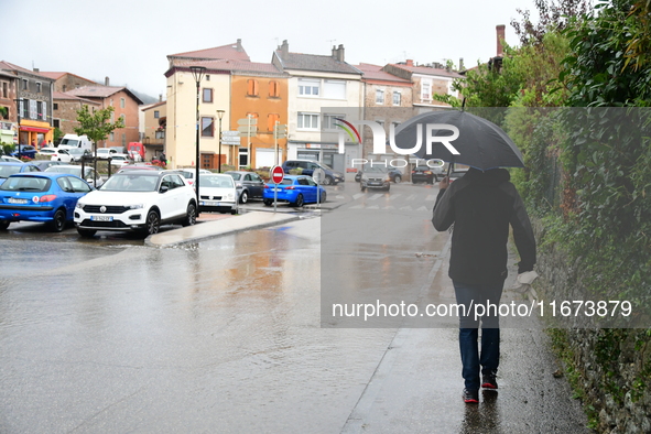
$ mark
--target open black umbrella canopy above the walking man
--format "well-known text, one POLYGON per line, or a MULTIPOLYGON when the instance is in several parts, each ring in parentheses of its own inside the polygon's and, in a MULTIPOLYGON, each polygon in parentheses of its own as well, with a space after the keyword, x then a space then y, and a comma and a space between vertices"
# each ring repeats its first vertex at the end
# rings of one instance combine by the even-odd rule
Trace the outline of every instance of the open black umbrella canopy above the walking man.
POLYGON ((394 135, 395 147, 402 150, 414 149, 420 135, 421 147, 414 153, 425 160, 438 159, 481 171, 495 167, 524 167, 522 153, 501 128, 467 111, 422 113, 401 123, 394 135), (435 127, 427 127, 428 124, 435 127), (428 137, 432 137, 431 147, 426 145, 428 137), (454 151, 458 154, 454 154, 454 151))

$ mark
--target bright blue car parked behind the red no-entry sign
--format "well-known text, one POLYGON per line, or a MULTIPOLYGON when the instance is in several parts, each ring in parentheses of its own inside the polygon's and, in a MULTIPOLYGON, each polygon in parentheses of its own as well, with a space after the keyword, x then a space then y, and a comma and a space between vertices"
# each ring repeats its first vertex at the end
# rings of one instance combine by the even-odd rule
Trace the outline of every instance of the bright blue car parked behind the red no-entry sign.
POLYGON ((278 195, 279 202, 289 202, 291 206, 301 207, 303 204, 314 204, 316 202, 326 202, 326 191, 321 185, 316 185, 311 176, 305 175, 285 175, 283 181, 275 184, 265 184, 262 192, 262 202, 267 206, 273 204, 273 195, 278 195), (317 198, 318 187, 318 198, 317 198))

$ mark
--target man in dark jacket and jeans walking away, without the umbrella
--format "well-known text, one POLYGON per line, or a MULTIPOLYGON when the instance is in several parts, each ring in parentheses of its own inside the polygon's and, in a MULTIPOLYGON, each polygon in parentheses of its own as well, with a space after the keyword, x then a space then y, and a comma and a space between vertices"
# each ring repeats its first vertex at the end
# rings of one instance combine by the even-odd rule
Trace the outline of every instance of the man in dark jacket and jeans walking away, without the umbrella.
POLYGON ((432 224, 440 231, 454 225, 448 274, 457 303, 466 306, 464 315, 459 311, 463 398, 466 403, 477 403, 480 387, 498 388, 500 330, 497 312, 475 319, 470 306, 499 305, 507 278, 509 225, 520 253, 518 273, 533 270, 535 239, 522 199, 507 170, 470 167, 453 184, 449 184, 449 177, 444 177, 440 188, 432 224), (479 323, 480 350, 477 343, 479 323))

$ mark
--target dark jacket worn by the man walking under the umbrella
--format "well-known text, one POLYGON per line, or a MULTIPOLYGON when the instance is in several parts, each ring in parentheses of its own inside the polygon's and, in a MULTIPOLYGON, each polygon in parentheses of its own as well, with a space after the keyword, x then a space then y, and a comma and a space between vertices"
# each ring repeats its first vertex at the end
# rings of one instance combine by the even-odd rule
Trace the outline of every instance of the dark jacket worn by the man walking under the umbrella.
POLYGON ((518 272, 533 270, 535 239, 527 209, 504 169, 470 169, 436 197, 432 224, 454 224, 449 276, 467 284, 498 283, 507 278, 509 225, 520 253, 518 272))

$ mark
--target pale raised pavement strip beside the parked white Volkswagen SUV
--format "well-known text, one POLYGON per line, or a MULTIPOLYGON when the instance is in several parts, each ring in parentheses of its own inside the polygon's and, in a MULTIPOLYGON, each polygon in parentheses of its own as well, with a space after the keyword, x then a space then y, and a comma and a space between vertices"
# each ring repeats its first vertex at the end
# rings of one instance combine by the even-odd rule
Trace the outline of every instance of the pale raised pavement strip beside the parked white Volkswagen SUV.
POLYGON ((249 229, 283 225, 299 220, 301 216, 253 211, 215 221, 206 221, 181 229, 155 234, 144 240, 145 246, 170 247, 185 242, 196 242, 209 238, 223 237, 249 229))

